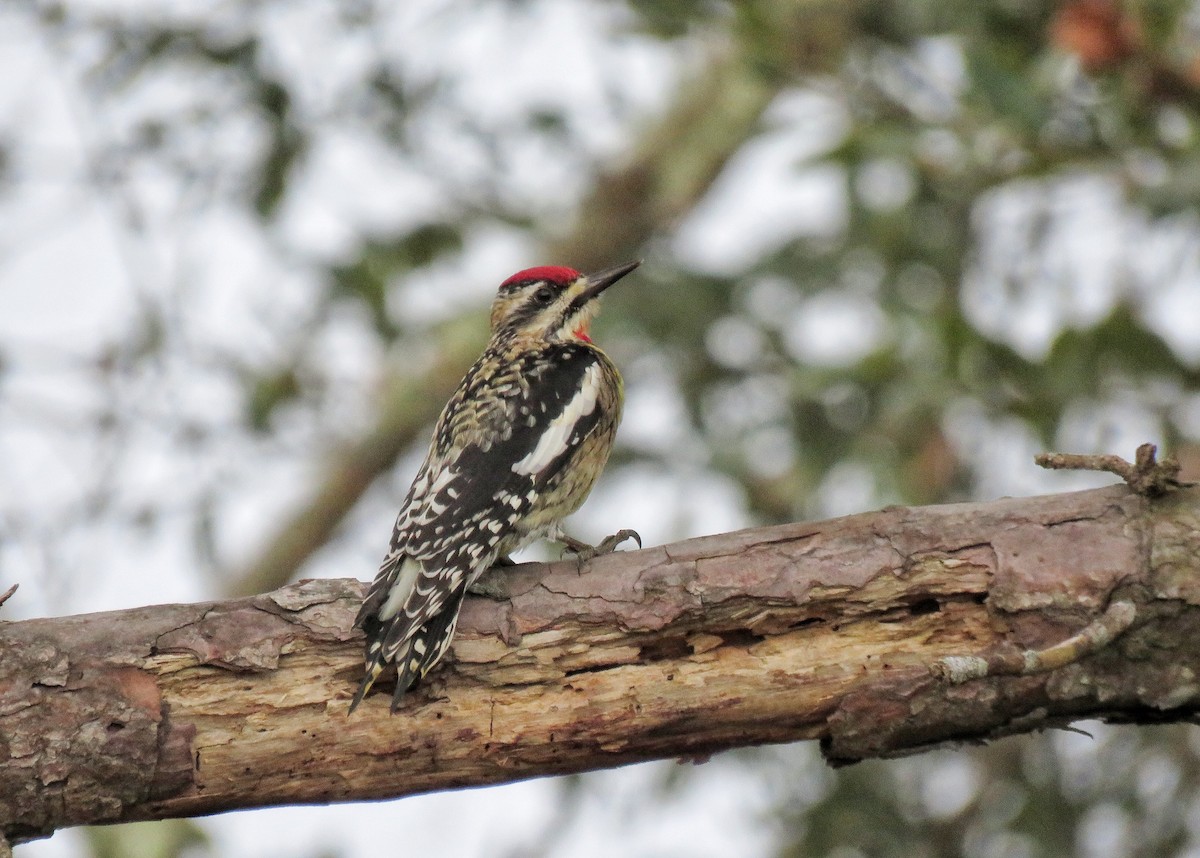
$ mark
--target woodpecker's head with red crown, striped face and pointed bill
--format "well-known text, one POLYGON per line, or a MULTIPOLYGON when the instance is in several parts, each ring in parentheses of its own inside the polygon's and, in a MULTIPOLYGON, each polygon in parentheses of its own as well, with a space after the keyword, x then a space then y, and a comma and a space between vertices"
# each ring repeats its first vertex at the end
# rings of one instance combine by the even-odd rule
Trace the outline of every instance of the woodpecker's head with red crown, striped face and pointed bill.
POLYGON ((492 304, 492 336, 590 342, 588 325, 600 293, 641 264, 630 262, 595 274, 560 265, 518 271, 500 283, 492 304))

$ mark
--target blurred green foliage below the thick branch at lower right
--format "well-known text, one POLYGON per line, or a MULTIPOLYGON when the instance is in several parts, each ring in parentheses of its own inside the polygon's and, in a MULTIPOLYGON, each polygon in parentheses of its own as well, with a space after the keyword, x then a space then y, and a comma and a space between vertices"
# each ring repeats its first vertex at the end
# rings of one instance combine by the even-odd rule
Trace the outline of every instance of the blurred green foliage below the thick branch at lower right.
MULTIPOLYGON (((1092 726, 1092 725, 1085 725, 1092 726)), ((1200 770, 1188 728, 1096 726, 974 754, 870 762, 792 796, 781 858, 1184 854, 1200 770)), ((766 766, 776 764, 768 760, 766 766)))

